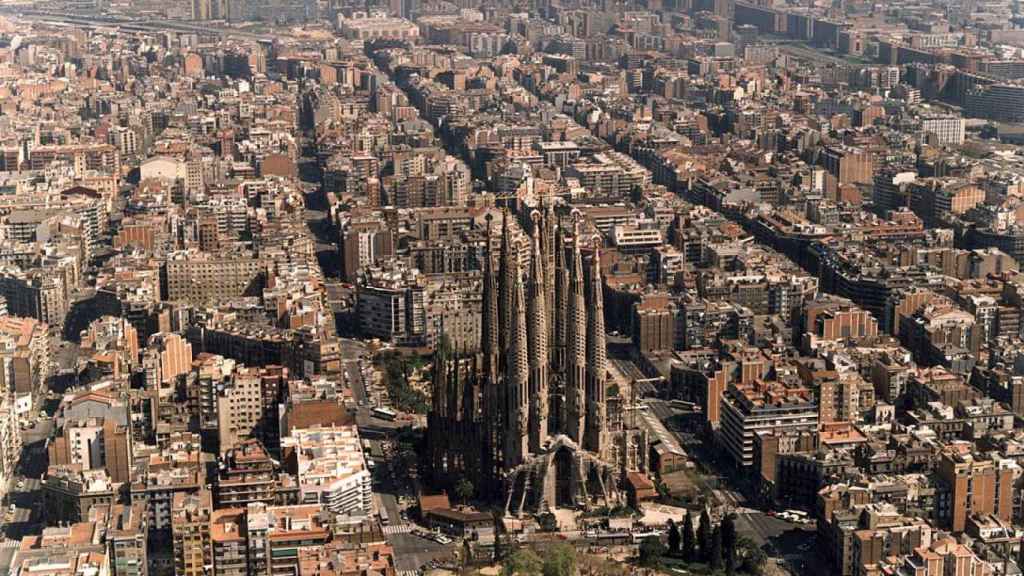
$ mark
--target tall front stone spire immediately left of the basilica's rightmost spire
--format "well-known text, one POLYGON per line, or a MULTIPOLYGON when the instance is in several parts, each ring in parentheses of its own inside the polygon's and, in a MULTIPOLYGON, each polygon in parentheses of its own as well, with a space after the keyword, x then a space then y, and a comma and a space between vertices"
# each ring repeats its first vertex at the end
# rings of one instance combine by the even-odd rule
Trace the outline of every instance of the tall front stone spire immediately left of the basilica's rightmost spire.
POLYGON ((572 257, 568 265, 568 306, 565 319, 565 434, 583 443, 586 420, 587 306, 584 298, 581 215, 573 212, 572 257))

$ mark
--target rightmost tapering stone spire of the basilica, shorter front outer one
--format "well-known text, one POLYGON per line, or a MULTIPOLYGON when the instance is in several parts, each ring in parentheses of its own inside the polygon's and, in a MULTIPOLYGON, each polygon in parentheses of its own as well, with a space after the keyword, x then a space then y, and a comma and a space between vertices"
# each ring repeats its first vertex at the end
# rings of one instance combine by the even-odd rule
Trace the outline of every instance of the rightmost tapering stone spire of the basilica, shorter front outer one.
POLYGON ((587 279, 587 450, 607 450, 607 343, 604 336, 604 291, 601 283, 600 239, 594 245, 587 279))

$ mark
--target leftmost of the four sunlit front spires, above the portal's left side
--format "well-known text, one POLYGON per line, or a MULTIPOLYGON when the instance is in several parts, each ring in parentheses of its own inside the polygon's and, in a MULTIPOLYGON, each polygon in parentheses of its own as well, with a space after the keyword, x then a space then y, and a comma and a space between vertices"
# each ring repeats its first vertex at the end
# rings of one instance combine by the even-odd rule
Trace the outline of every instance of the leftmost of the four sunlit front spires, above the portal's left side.
POLYGON ((527 453, 529 343, 526 334, 526 301, 518 262, 511 262, 508 353, 505 360, 505 452, 506 470, 521 464, 527 453))

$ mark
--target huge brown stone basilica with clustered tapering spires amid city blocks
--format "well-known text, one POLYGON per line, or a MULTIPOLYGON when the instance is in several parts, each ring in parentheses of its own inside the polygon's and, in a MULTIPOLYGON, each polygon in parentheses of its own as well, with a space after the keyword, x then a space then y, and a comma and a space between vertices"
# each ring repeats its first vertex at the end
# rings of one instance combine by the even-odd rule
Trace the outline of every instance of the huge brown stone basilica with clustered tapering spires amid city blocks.
POLYGON ((585 266, 578 214, 570 240, 550 208, 530 216, 527 265, 508 212, 495 258, 487 216, 480 351, 434 358, 431 474, 468 479, 506 513, 613 506, 648 446, 621 413, 609 421, 599 247, 585 266))

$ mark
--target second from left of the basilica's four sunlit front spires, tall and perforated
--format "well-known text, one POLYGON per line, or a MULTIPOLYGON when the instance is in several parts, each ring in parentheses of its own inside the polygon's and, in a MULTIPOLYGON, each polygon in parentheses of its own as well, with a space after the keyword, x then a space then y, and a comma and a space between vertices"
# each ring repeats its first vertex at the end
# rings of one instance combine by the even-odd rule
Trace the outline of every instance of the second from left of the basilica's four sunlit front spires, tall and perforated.
POLYGON ((527 293, 526 327, 529 336, 529 451, 538 453, 548 437, 548 312, 544 254, 541 237, 544 228, 541 214, 532 213, 534 249, 530 257, 530 279, 527 293))

